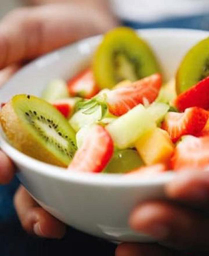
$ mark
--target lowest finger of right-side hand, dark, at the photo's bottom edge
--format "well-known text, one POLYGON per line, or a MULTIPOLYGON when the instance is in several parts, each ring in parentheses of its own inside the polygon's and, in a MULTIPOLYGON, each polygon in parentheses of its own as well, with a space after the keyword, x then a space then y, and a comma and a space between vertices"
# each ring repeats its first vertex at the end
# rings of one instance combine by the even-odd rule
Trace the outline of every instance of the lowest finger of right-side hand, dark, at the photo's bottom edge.
POLYGON ((136 244, 136 243, 123 243, 120 244, 116 251, 115 256, 180 256, 172 250, 166 249, 158 244, 136 244))

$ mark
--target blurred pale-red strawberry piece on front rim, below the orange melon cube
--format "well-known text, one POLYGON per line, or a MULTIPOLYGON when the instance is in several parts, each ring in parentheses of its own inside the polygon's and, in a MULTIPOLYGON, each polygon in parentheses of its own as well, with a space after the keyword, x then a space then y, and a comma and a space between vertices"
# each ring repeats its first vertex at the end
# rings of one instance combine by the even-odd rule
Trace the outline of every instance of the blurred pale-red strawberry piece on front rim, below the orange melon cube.
POLYGON ((153 178, 159 173, 166 171, 166 167, 163 164, 156 164, 146 167, 141 167, 126 174, 126 178, 153 178))

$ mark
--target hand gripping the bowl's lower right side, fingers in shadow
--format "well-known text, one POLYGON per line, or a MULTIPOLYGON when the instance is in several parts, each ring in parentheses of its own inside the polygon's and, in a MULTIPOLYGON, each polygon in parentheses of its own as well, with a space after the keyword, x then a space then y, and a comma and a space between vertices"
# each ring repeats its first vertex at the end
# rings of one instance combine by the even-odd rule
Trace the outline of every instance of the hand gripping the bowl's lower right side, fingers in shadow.
POLYGON ((166 201, 141 203, 129 219, 133 230, 149 234, 165 247, 121 244, 116 256, 200 256, 209 252, 209 172, 178 173, 166 186, 166 195, 166 201))

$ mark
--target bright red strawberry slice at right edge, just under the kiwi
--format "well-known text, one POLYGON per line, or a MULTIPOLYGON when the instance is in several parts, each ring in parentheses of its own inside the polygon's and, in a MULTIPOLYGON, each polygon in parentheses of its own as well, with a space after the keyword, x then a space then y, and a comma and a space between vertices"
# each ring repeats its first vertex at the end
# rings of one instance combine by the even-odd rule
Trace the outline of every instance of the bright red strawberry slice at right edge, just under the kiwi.
POLYGON ((174 105, 179 111, 194 106, 209 109, 209 77, 181 93, 174 101, 174 105))

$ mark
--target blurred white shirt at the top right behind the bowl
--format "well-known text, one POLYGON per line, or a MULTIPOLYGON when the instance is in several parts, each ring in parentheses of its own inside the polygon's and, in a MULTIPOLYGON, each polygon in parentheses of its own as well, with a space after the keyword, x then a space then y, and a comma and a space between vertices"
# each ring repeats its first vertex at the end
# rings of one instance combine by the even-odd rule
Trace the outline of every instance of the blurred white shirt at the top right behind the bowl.
POLYGON ((209 0, 110 0, 121 19, 155 22, 172 17, 209 14, 209 0))

